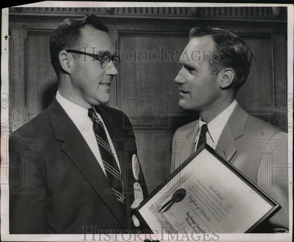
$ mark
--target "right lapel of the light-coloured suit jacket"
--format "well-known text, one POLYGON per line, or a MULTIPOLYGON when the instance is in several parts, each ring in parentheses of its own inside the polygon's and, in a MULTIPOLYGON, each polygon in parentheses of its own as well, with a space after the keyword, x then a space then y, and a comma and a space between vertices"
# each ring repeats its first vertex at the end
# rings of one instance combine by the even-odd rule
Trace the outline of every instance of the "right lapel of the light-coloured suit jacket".
POLYGON ((216 151, 227 161, 236 153, 235 140, 243 135, 248 113, 237 104, 220 134, 216 151))

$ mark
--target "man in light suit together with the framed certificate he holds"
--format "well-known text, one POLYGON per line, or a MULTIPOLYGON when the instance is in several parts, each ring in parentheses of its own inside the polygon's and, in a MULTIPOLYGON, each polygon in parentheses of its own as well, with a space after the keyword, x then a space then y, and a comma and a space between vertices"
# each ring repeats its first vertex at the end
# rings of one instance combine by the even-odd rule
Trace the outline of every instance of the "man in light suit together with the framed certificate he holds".
POLYGON ((143 226, 164 233, 289 232, 288 136, 235 100, 253 59, 227 29, 190 30, 175 82, 179 106, 200 118, 175 132, 172 173, 137 209, 143 226))

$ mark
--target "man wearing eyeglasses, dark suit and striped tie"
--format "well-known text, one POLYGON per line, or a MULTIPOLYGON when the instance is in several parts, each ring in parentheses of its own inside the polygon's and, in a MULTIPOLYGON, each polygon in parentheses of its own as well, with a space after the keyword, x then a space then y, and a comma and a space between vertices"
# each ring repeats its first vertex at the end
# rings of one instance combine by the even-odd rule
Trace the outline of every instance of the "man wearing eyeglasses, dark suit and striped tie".
POLYGON ((110 100, 120 61, 107 31, 97 16, 86 15, 64 20, 51 34, 56 97, 9 138, 12 234, 121 233, 136 226, 133 208, 147 189, 131 123, 101 105, 110 100), (18 144, 30 150, 32 141, 40 145, 32 168, 14 168, 27 164, 18 144), (27 180, 34 189, 19 193, 27 180))

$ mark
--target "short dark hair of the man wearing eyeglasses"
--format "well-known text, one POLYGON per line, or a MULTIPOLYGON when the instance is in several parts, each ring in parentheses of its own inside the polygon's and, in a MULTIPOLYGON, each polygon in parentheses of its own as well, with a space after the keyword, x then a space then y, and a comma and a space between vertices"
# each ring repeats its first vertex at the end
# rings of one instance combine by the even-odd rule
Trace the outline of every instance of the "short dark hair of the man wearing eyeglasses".
MULTIPOLYGON (((101 19, 94 14, 87 14, 83 18, 67 18, 57 26, 49 40, 51 64, 57 73, 59 69, 59 53, 67 49, 80 49, 85 44, 81 39, 81 29, 86 25, 108 33, 108 29, 103 25, 101 19)), ((78 54, 72 54, 74 59, 79 58, 78 54)))

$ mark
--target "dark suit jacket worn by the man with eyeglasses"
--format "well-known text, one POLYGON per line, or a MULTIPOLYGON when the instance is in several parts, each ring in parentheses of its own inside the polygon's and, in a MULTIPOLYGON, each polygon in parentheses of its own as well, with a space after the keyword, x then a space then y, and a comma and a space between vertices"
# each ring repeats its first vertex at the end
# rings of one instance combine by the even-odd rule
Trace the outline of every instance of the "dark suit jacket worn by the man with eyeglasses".
MULTIPOLYGON (((55 98, 48 109, 9 136, 10 233, 81 234, 82 226, 87 232, 92 231, 90 226, 102 231, 132 228, 135 137, 123 112, 100 109, 119 158, 126 208, 107 193, 111 187, 101 166, 55 98)), ((141 166, 138 182, 146 198, 141 166)))

